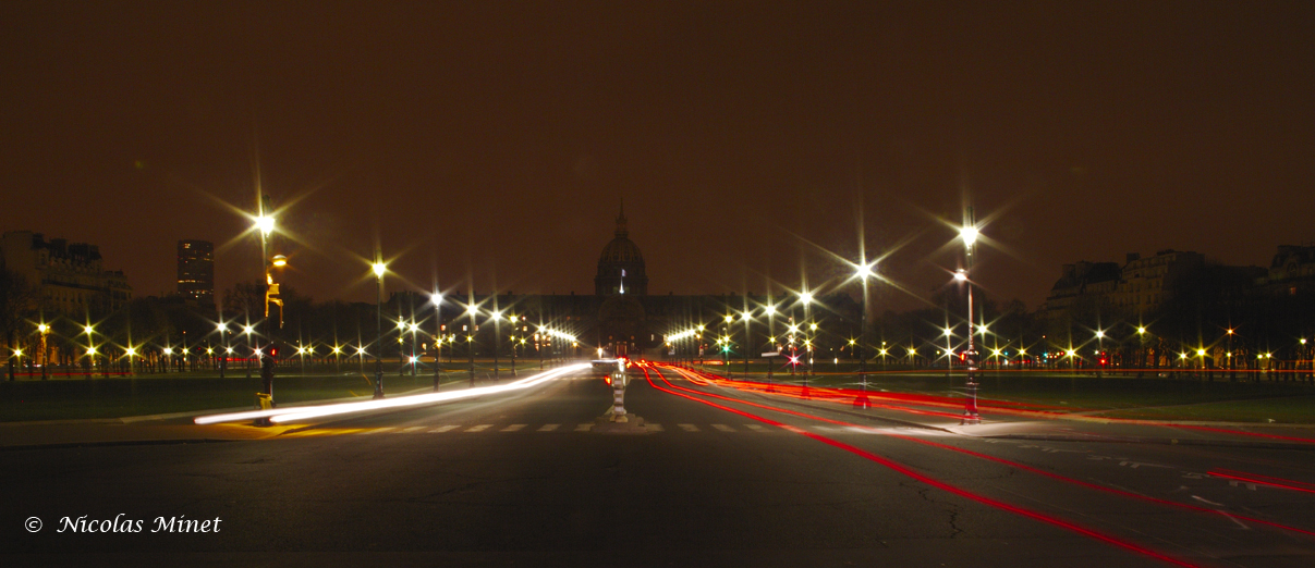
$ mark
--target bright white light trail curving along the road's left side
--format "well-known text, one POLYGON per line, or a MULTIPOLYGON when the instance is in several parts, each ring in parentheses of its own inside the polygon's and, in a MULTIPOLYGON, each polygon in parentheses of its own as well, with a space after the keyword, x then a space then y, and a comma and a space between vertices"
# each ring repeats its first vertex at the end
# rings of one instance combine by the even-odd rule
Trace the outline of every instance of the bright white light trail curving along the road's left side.
POLYGON ((471 398, 484 394, 494 394, 508 390, 525 389, 556 379, 563 375, 568 375, 576 371, 584 371, 586 368, 589 368, 588 363, 577 363, 556 368, 552 371, 542 372, 538 375, 527 376, 525 379, 521 379, 514 383, 508 383, 505 385, 477 387, 477 388, 450 390, 442 393, 414 394, 406 397, 372 400, 362 402, 342 402, 342 404, 322 405, 322 406, 300 406, 300 408, 281 409, 281 410, 274 409, 274 410, 251 410, 251 412, 229 413, 229 414, 210 414, 210 415, 197 417, 193 422, 199 425, 206 425, 216 422, 234 422, 234 421, 264 418, 264 417, 268 417, 270 422, 293 422, 293 421, 302 421, 308 418, 318 418, 334 414, 416 406, 423 404, 443 402, 451 400, 471 398))

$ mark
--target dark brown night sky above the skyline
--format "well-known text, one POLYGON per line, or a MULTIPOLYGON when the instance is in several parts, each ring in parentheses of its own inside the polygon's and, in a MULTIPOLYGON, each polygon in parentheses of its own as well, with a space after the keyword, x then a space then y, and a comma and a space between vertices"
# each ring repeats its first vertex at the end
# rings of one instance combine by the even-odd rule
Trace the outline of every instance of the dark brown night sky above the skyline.
MULTIPOLYGON (((1078 259, 1268 264, 1315 239, 1315 3, 0 3, 0 229, 138 295, 180 238, 258 273, 252 156, 317 298, 588 293, 618 200, 651 293, 882 272, 1036 306, 1078 259), (988 5, 989 4, 989 5, 988 5), (938 250, 940 250, 938 252, 938 250), (401 283, 391 287, 402 285, 401 283)), ((917 301, 886 292, 884 305, 917 301)))

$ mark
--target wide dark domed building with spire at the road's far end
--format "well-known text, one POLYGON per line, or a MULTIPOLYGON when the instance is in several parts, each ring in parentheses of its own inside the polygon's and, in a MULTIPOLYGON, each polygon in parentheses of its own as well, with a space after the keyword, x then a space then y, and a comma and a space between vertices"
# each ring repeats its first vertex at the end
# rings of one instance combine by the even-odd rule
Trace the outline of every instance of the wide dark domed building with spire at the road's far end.
MULTIPOLYGON (((798 348, 806 351, 821 342, 821 333, 832 343, 853 337, 859 330, 860 305, 848 295, 818 297, 809 308, 789 305, 780 297, 775 302, 763 295, 648 295, 648 275, 639 246, 630 241, 625 212, 617 217, 613 239, 598 255, 593 295, 480 295, 452 291, 435 308, 427 293, 397 292, 384 306, 384 331, 402 329, 409 322, 438 331, 447 338, 444 348, 468 354, 473 344, 477 356, 519 348, 522 354, 546 350, 550 356, 709 356, 719 358, 717 341, 730 338, 730 359, 748 352, 786 348, 788 326, 809 331, 798 337, 798 348), (772 302, 777 312, 763 320, 763 306, 772 302), (469 308, 476 306, 472 312, 469 308), (756 313, 748 326, 743 313, 756 313), (435 314, 437 321, 435 321, 435 314), (727 323, 731 316, 734 323, 727 323), (514 318, 514 320, 513 320, 514 318), (811 320, 809 320, 811 318, 811 320), (807 321, 806 321, 807 320, 807 321), (775 323, 775 326, 773 326, 775 323), (540 333, 551 330, 551 333, 540 333), (668 338, 681 334, 680 339, 668 338), (805 334, 809 343, 805 344, 805 334), (572 338, 572 339, 565 339, 572 338), (455 344, 452 343, 455 342, 455 344)), ((794 302, 798 304, 798 302, 794 302)), ((392 343, 392 342, 389 342, 392 343)), ((398 343, 409 350, 406 338, 398 343)), ((421 346, 427 348, 427 346, 421 346)))

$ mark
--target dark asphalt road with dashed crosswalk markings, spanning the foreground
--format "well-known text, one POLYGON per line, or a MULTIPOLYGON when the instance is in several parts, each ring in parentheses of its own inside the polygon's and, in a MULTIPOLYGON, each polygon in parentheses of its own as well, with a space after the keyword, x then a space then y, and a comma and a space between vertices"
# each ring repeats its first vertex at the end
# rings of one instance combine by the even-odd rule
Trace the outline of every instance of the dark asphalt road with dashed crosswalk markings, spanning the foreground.
POLYGON ((1315 489, 1301 485, 1315 484, 1311 450, 982 439, 892 422, 911 417, 889 409, 663 373, 671 384, 631 373, 626 408, 643 434, 598 431, 611 389, 577 376, 274 439, 0 452, 0 555, 32 565, 1315 564, 1315 492, 1301 490, 1315 489), (1207 475, 1220 471, 1297 489, 1207 475), (60 522, 82 515, 143 530, 60 522), (42 530, 20 526, 29 517, 42 530), (220 519, 220 530, 153 532, 158 518, 220 519))

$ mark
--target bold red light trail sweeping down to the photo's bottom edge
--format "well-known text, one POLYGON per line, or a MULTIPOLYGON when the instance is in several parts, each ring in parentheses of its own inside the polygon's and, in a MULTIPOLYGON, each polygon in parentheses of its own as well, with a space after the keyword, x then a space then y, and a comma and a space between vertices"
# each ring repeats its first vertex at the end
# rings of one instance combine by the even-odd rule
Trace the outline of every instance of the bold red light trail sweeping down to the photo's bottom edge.
POLYGON ((964 497, 964 498, 968 498, 968 500, 972 500, 972 501, 977 501, 977 502, 988 505, 988 506, 993 506, 993 508, 999 509, 999 510, 1015 513, 1015 514, 1019 514, 1019 515, 1023 515, 1023 517, 1028 517, 1031 519, 1041 521, 1041 522, 1048 523, 1048 525, 1053 525, 1053 526, 1057 526, 1057 527, 1061 527, 1061 529, 1066 529, 1069 531, 1081 534, 1084 536, 1090 536, 1093 539, 1097 539, 1097 540, 1101 540, 1101 542, 1105 542, 1105 543, 1109 543, 1109 544, 1114 544, 1116 547, 1126 548, 1126 550, 1130 550, 1132 552, 1137 552, 1140 555, 1149 556, 1149 557, 1153 557, 1156 560, 1161 560, 1161 561, 1168 563, 1168 564, 1180 565, 1180 567, 1195 567, 1195 564, 1190 564, 1190 563, 1186 563, 1184 560, 1178 560, 1178 559, 1176 559, 1173 556, 1168 556, 1168 555, 1156 552, 1153 550, 1144 548, 1144 547, 1140 547, 1137 544, 1134 544, 1134 543, 1130 543, 1130 542, 1126 542, 1126 540, 1120 540, 1118 538, 1114 538, 1114 536, 1098 532, 1095 530, 1086 529, 1086 527, 1070 523, 1068 521, 1064 521, 1064 519, 1060 519, 1060 518, 1056 518, 1056 517, 1047 515, 1044 513, 1039 513, 1039 511, 1034 511, 1031 509, 1024 509, 1024 508, 1020 508, 1020 506, 1010 505, 1010 504, 1006 504, 1003 501, 997 501, 997 500, 993 500, 993 498, 986 497, 986 496, 980 496, 977 493, 972 493, 972 492, 969 492, 967 489, 960 489, 960 488, 949 485, 949 484, 947 484, 944 481, 938 481, 938 480, 935 480, 932 477, 927 477, 927 476, 924 476, 922 473, 918 473, 918 472, 910 469, 909 467, 905 467, 903 464, 899 464, 899 463, 893 462, 890 459, 886 459, 886 458, 882 458, 880 455, 868 452, 865 450, 860 450, 857 447, 849 446, 849 444, 847 444, 844 442, 840 442, 840 440, 836 440, 836 439, 832 439, 832 438, 827 438, 827 437, 821 435, 821 434, 813 434, 813 433, 810 433, 807 430, 800 429, 797 426, 790 426, 790 425, 788 425, 785 422, 777 422, 777 421, 767 418, 767 417, 761 417, 761 415, 752 414, 752 413, 748 413, 748 412, 744 412, 744 410, 739 410, 739 409, 734 409, 734 408, 730 408, 730 406, 719 405, 717 402, 706 401, 706 400, 697 398, 697 397, 690 396, 690 394, 685 394, 685 393, 681 393, 681 392, 676 392, 676 390, 672 390, 672 389, 668 389, 668 388, 659 387, 648 376, 647 369, 644 372, 644 379, 648 381, 648 384, 652 388, 655 388, 658 390, 665 392, 668 394, 675 394, 675 396, 679 396, 679 397, 689 398, 689 400, 692 400, 694 402, 701 402, 701 404, 705 404, 705 405, 709 405, 709 406, 713 406, 713 408, 717 408, 717 409, 721 409, 721 410, 726 410, 726 412, 732 413, 732 414, 739 414, 739 415, 742 415, 744 418, 755 419, 755 421, 763 422, 765 425, 776 426, 776 427, 780 427, 782 430, 788 430, 788 431, 796 433, 798 435, 811 438, 811 439, 814 439, 817 442, 822 442, 822 443, 825 443, 827 446, 831 446, 831 447, 835 447, 835 448, 839 448, 839 450, 844 450, 844 451, 847 451, 849 454, 853 454, 856 456, 864 458, 864 459, 867 459, 869 462, 885 465, 889 469, 893 469, 893 471, 896 471, 898 473, 902 473, 902 475, 905 475, 907 477, 913 477, 914 480, 922 481, 923 484, 931 485, 931 486, 934 486, 936 489, 942 489, 942 490, 957 494, 960 497, 964 497))

